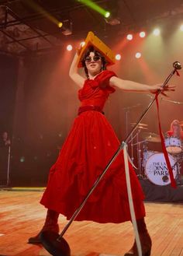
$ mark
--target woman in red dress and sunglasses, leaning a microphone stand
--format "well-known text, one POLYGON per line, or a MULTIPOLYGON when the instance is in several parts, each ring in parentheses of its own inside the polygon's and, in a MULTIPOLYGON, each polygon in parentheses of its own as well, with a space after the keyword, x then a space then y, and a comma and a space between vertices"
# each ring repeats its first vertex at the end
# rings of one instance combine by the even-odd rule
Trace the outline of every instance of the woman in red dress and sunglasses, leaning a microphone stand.
MULTIPOLYGON (((78 74, 77 59, 78 54, 74 57, 69 75, 81 87, 78 91, 81 106, 57 162, 50 169, 47 189, 40 201, 48 209, 41 231, 59 231, 59 214, 71 218, 119 148, 120 142, 102 112, 109 94, 114 93, 116 87, 151 93, 161 89, 160 85, 147 86, 119 79, 114 72, 105 69, 105 58, 94 47, 88 49, 82 61, 87 79, 78 74)), ((171 90, 171 87, 167 86, 165 90, 171 90)), ((130 163, 129 172, 143 255, 150 255, 151 240, 144 222, 143 191, 130 163)), ((76 220, 98 223, 123 223, 131 220, 123 152, 109 167, 76 220)), ((29 238, 29 243, 40 243, 40 233, 29 238)), ((137 255, 135 243, 126 255, 137 255)))

